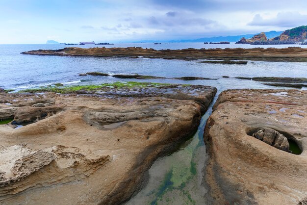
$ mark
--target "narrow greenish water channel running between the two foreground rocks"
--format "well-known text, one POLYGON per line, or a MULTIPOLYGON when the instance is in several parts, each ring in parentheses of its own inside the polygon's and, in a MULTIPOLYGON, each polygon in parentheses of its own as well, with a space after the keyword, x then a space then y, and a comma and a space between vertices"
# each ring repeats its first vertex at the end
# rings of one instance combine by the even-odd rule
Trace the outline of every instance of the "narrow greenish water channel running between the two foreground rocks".
POLYGON ((149 170, 148 184, 125 205, 204 204, 207 190, 202 180, 207 155, 203 134, 218 94, 202 117, 194 136, 177 152, 157 159, 149 170))

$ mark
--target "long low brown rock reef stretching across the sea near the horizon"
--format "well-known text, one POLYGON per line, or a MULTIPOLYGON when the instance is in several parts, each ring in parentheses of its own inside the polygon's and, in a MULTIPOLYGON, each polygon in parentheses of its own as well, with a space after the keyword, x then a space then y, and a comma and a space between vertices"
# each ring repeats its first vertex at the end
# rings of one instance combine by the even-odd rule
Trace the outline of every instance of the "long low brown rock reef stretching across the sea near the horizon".
POLYGON ((64 48, 60 50, 26 51, 31 55, 101 56, 101 57, 148 57, 164 59, 215 59, 215 60, 259 60, 259 61, 307 61, 307 49, 303 48, 254 48, 254 49, 182 49, 153 50, 140 47, 128 48, 64 48))

